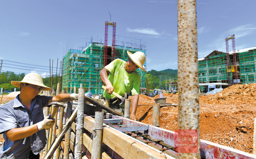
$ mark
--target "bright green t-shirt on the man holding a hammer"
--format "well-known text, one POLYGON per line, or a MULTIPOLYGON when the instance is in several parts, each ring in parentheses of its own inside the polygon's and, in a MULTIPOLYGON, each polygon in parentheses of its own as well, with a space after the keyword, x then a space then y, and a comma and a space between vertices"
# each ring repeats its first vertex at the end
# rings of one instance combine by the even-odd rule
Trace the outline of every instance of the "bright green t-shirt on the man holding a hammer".
MULTIPOLYGON (((124 69, 125 61, 116 59, 108 64, 105 68, 110 72, 108 80, 114 87, 114 92, 120 96, 124 96, 124 92, 129 94, 132 91, 132 95, 139 94, 140 91, 140 75, 135 70, 131 74, 128 74, 124 69)), ((106 99, 115 97, 113 94, 108 94, 106 90, 103 92, 103 96, 106 99)))

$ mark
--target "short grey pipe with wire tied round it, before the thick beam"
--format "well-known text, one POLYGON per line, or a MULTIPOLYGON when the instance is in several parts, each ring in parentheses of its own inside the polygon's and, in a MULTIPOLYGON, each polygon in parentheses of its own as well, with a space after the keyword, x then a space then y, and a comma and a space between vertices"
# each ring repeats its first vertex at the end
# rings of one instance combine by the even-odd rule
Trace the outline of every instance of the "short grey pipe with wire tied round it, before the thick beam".
POLYGON ((92 132, 92 159, 101 158, 101 142, 102 142, 102 133, 103 133, 103 115, 104 112, 95 112, 95 121, 94 121, 94 130, 92 132))

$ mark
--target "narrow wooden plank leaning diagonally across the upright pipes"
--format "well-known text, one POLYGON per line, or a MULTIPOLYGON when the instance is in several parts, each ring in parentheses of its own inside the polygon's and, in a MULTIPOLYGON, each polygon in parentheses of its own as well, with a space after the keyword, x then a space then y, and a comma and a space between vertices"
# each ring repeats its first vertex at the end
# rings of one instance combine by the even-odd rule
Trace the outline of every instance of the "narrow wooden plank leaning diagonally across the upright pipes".
POLYGON ((71 124, 73 123, 73 121, 76 118, 76 114, 77 114, 77 108, 75 109, 75 111, 73 112, 73 114, 70 116, 68 123, 66 124, 66 126, 63 128, 62 132, 60 133, 60 136, 55 140, 55 142, 52 144, 52 147, 50 148, 50 150, 48 150, 48 153, 45 155, 45 159, 50 159, 54 153, 54 151, 57 149, 57 147, 60 145, 61 142, 61 138, 63 137, 63 135, 68 131, 69 127, 71 126, 71 124))

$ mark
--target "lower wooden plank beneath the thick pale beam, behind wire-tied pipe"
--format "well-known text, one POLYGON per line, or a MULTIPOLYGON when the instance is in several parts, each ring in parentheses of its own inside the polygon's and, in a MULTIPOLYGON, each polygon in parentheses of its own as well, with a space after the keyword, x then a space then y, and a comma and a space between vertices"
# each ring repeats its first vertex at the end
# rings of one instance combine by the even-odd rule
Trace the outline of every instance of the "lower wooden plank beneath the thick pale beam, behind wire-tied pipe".
MULTIPOLYGON (((84 134, 83 134, 83 144, 86 148, 88 148, 88 151, 91 153, 92 152, 92 140, 91 140, 91 136, 86 132, 84 132, 84 134), (90 143, 90 145, 89 145, 89 143, 90 143)), ((84 153, 86 153, 86 152, 84 152, 84 153)), ((103 148, 101 148, 101 158, 102 159, 114 159, 103 148)))

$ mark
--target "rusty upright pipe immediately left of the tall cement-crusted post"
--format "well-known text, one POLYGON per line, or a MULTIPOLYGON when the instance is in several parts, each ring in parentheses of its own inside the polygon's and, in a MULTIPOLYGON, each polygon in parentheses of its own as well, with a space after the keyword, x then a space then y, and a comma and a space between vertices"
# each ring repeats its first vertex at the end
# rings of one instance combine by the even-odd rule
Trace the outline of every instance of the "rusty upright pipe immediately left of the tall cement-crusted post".
MULTIPOLYGON (((67 106, 67 118, 66 118, 66 123, 68 122, 71 114, 72 114, 72 103, 73 101, 68 102, 67 106)), ((64 156, 63 159, 69 159, 69 147, 70 147, 70 134, 71 130, 68 130, 65 134, 65 144, 64 144, 64 156)))

